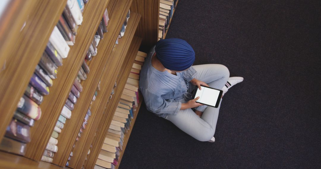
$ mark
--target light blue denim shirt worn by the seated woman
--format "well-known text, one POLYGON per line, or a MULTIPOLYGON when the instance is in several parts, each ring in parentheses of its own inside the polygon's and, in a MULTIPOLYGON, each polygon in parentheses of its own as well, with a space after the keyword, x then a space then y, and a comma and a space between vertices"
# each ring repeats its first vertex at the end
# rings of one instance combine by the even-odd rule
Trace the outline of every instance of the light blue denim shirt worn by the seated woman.
POLYGON ((167 71, 159 71, 152 66, 152 55, 155 46, 148 53, 140 71, 139 89, 143 94, 146 108, 159 117, 176 115, 181 108, 181 99, 190 100, 188 90, 190 82, 195 78, 193 67, 178 72, 177 76, 167 71))

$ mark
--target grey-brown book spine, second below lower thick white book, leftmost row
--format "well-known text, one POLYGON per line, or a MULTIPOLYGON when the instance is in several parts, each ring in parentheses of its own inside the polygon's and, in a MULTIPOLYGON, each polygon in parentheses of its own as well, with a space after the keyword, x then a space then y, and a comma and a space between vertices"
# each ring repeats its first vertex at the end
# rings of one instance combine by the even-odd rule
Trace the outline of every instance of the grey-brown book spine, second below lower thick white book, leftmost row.
POLYGON ((57 78, 57 67, 55 63, 49 58, 46 52, 43 52, 39 65, 47 72, 47 74, 51 78, 57 78))

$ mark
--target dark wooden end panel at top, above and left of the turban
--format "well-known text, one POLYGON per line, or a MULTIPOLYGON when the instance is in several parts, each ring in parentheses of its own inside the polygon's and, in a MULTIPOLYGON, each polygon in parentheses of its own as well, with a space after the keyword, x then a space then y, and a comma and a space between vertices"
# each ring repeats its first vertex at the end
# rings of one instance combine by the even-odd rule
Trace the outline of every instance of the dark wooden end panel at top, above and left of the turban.
POLYGON ((160 0, 134 0, 131 12, 142 15, 135 36, 142 37, 142 45, 152 47, 158 41, 160 0))

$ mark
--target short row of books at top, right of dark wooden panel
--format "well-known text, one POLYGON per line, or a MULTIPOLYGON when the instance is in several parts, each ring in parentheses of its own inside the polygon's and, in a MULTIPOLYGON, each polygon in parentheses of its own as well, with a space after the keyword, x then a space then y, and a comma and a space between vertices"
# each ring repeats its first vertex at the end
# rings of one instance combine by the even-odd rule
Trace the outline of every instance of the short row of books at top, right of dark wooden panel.
POLYGON ((158 40, 163 39, 165 32, 168 29, 170 19, 173 16, 173 11, 176 8, 177 0, 160 0, 158 40))

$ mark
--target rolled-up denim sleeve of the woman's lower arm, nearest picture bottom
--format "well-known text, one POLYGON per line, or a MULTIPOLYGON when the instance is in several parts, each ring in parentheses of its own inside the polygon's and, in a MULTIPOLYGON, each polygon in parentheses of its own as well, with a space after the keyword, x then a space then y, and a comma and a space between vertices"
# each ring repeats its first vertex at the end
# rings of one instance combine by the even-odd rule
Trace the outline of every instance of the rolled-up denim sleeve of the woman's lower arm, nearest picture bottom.
POLYGON ((148 90, 142 91, 146 108, 158 115, 168 114, 176 115, 180 110, 182 103, 180 101, 165 100, 160 95, 153 94, 148 90))

